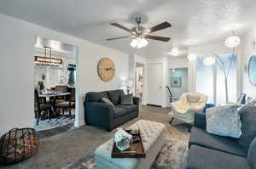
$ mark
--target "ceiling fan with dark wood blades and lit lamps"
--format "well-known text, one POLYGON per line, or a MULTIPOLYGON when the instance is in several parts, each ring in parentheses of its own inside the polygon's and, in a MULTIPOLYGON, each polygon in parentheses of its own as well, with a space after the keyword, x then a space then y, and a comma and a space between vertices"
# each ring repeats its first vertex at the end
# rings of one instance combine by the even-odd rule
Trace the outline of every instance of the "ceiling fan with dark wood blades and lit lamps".
MULTIPOLYGON (((124 37, 113 37, 113 38, 108 38, 106 39, 107 41, 113 41, 117 39, 122 39, 122 38, 127 38, 127 37, 137 37, 139 39, 152 39, 152 40, 157 40, 157 41, 163 41, 163 42, 168 42, 171 38, 170 37, 158 37, 158 36, 151 36, 148 35, 150 33, 153 33, 154 31, 160 31, 163 29, 166 29, 168 27, 171 27, 172 25, 168 22, 163 22, 159 25, 155 25, 151 28, 145 28, 141 25, 142 18, 137 17, 136 18, 137 26, 132 27, 131 29, 125 27, 124 25, 119 25, 118 23, 111 23, 110 25, 116 26, 124 31, 128 31, 131 33, 129 36, 124 36, 124 37)), ((148 44, 148 42, 147 42, 148 44)))

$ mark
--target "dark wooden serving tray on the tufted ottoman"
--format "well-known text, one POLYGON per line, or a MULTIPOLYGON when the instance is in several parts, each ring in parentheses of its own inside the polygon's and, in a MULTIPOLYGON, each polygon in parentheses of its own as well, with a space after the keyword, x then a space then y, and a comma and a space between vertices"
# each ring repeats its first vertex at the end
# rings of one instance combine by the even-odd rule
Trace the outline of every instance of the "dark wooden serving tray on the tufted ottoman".
MULTIPOLYGON (((125 130, 131 134, 131 130, 125 130)), ((143 147, 143 142, 141 138, 141 133, 138 130, 137 134, 131 134, 132 138, 138 138, 136 142, 131 143, 129 149, 125 149, 124 151, 119 150, 116 147, 116 144, 113 142, 113 149, 112 149, 112 158, 145 158, 146 154, 143 147)))

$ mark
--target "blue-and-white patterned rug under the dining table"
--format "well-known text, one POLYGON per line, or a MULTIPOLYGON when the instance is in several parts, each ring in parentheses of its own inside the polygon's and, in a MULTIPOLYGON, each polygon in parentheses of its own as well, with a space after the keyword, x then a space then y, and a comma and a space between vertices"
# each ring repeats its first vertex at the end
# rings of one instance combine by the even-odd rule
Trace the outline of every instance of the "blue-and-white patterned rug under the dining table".
POLYGON ((75 120, 74 116, 73 117, 58 117, 58 118, 53 118, 53 119, 47 119, 44 121, 39 121, 38 126, 36 125, 36 120, 35 120, 35 129, 36 131, 44 131, 44 130, 49 130, 52 128, 56 127, 62 127, 66 126, 67 124, 73 123, 75 120))

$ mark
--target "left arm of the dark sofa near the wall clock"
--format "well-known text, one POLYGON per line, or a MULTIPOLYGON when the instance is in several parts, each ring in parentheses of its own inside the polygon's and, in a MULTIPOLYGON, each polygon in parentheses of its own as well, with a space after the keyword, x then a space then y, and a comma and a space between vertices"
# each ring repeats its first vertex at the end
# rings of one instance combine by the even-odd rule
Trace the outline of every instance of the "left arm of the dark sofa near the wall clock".
POLYGON ((113 107, 108 103, 85 102, 86 122, 108 127, 113 121, 113 107))

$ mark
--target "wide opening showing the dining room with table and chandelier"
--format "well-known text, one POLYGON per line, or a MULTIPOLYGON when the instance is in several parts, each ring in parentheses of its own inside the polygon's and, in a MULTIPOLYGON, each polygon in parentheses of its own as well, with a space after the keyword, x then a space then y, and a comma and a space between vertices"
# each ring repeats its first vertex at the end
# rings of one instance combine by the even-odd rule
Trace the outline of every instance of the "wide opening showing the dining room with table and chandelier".
POLYGON ((36 131, 73 127, 76 110, 77 47, 36 36, 33 59, 36 131))

